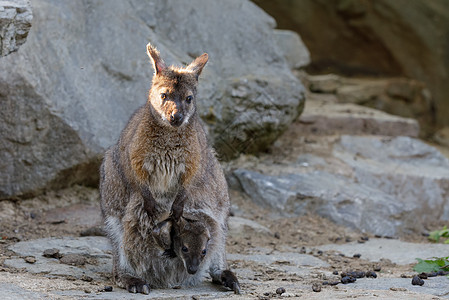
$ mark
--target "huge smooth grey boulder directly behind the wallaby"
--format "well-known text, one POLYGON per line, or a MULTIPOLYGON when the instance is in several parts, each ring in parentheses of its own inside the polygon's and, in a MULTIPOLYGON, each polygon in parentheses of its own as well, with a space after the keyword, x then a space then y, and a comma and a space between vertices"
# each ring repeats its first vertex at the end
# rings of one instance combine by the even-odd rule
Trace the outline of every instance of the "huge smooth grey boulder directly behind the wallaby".
POLYGON ((198 110, 224 158, 266 148, 302 111, 275 22, 249 1, 36 0, 33 10, 28 42, 0 60, 0 198, 97 182, 104 150, 146 101, 149 41, 169 64, 210 55, 198 110))

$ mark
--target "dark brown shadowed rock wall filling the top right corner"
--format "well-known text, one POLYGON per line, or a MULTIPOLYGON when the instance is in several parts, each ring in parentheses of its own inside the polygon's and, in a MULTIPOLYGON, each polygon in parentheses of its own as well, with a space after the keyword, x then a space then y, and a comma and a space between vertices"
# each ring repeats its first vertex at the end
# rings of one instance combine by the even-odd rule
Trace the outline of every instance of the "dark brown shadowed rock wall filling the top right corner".
POLYGON ((253 0, 280 28, 297 31, 326 73, 405 75, 434 96, 449 125, 449 6, 446 0, 253 0))

